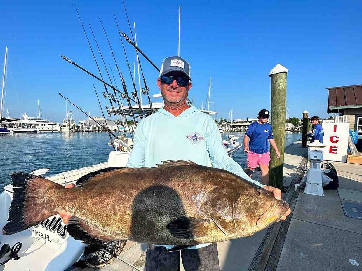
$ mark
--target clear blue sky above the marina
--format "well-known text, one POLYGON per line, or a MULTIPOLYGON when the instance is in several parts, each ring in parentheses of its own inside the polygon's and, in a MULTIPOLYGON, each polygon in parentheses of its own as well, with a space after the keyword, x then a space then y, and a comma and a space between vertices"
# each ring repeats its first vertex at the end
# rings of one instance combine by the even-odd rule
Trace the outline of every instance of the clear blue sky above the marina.
MULTIPOLYGON (((128 89, 132 89, 113 18, 115 13, 121 30, 130 33, 122 1, 75 4, 94 52, 97 48, 88 22, 107 65, 114 68, 98 22, 101 18, 128 89)), ((219 112, 218 118, 227 118, 231 107, 233 119, 256 117, 260 109, 269 109, 268 74, 277 63, 289 69, 290 117, 302 117, 304 110, 327 117, 326 87, 362 84, 361 1, 126 1, 131 24, 136 22, 138 45, 157 66, 165 57, 177 55, 179 4, 180 56, 191 65, 193 83, 189 98, 195 96, 197 107, 202 101, 205 104, 211 76, 215 103, 210 109, 219 112)), ((22 112, 36 116, 39 99, 43 117, 61 122, 66 102, 59 92, 91 115, 101 115, 92 83, 98 94, 104 91, 102 84, 58 55, 98 75, 73 3, 2 1, 0 9, 0 69, 8 46, 5 107, 10 116, 22 112)), ((128 43, 125 46, 133 71, 135 50, 128 43)), ((142 56, 140 60, 150 93, 159 93, 156 69, 142 56)), ((107 77, 105 72, 103 76, 107 77)), ((118 76, 116 81, 121 88, 118 76)), ((108 104, 103 98, 101 102, 108 104)), ((85 119, 77 109, 73 114, 77 120, 85 119)))

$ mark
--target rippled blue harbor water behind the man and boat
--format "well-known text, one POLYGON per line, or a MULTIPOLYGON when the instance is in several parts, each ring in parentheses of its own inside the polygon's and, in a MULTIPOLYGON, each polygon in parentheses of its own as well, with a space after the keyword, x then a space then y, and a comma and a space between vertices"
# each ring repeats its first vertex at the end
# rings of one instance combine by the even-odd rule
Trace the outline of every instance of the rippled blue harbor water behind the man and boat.
MULTIPOLYGON (((222 138, 227 139, 230 134, 222 133, 222 138)), ((244 133, 232 134, 243 141, 244 133)), ((285 145, 301 137, 301 133, 286 134, 285 145)), ((108 142, 109 135, 105 132, 0 134, 0 189, 11 183, 11 172, 50 168, 47 176, 106 162, 109 152, 113 150, 108 142)), ((246 167, 247 155, 243 147, 234 154, 233 159, 243 168, 246 167)))

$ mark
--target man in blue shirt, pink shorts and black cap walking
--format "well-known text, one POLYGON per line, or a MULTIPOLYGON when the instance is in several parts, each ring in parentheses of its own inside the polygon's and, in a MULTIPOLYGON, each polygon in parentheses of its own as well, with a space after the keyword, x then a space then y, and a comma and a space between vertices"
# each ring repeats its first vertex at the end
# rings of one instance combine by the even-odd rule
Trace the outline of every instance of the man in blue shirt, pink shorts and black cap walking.
POLYGON ((268 122, 270 115, 267 109, 262 109, 258 114, 258 121, 249 125, 247 132, 244 136, 244 152, 248 154, 247 166, 248 169, 254 170, 258 165, 261 170, 261 183, 267 185, 269 181, 269 162, 270 152, 268 140, 270 145, 280 157, 280 153, 275 144, 273 131, 268 122), (250 139, 249 146, 248 140, 250 139))

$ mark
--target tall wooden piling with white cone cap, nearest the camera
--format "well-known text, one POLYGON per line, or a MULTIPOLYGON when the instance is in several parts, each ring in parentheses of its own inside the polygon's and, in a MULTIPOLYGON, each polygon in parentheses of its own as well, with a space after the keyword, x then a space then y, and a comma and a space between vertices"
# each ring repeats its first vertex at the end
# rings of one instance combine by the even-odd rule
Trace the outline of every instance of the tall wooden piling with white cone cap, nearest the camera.
POLYGON ((285 149, 285 107, 287 95, 288 69, 277 64, 269 73, 270 76, 270 115, 273 135, 280 158, 277 158, 270 146, 269 186, 283 188, 283 168, 285 149))

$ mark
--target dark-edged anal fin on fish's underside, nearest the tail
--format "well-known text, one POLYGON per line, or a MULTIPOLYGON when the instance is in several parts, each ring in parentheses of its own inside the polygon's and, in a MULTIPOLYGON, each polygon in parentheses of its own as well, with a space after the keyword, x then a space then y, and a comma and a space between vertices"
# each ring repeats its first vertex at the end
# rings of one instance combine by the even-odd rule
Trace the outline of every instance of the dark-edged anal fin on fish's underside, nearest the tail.
POLYGON ((110 234, 96 225, 92 225, 77 216, 68 219, 67 232, 75 239, 85 244, 96 244, 117 240, 117 237, 110 234))

